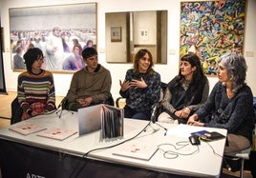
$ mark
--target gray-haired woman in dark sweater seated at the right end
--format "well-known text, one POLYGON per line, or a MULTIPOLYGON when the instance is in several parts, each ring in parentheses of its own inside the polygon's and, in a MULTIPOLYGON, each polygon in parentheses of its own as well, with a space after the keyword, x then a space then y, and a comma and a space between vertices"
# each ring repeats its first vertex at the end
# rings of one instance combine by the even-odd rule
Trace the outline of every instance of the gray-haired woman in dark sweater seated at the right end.
POLYGON ((245 84, 245 58, 225 54, 220 58, 217 74, 219 82, 212 89, 201 109, 189 117, 192 126, 227 129, 228 144, 224 152, 250 147, 253 124, 253 95, 245 84), (208 115, 208 120, 204 118, 208 115))

